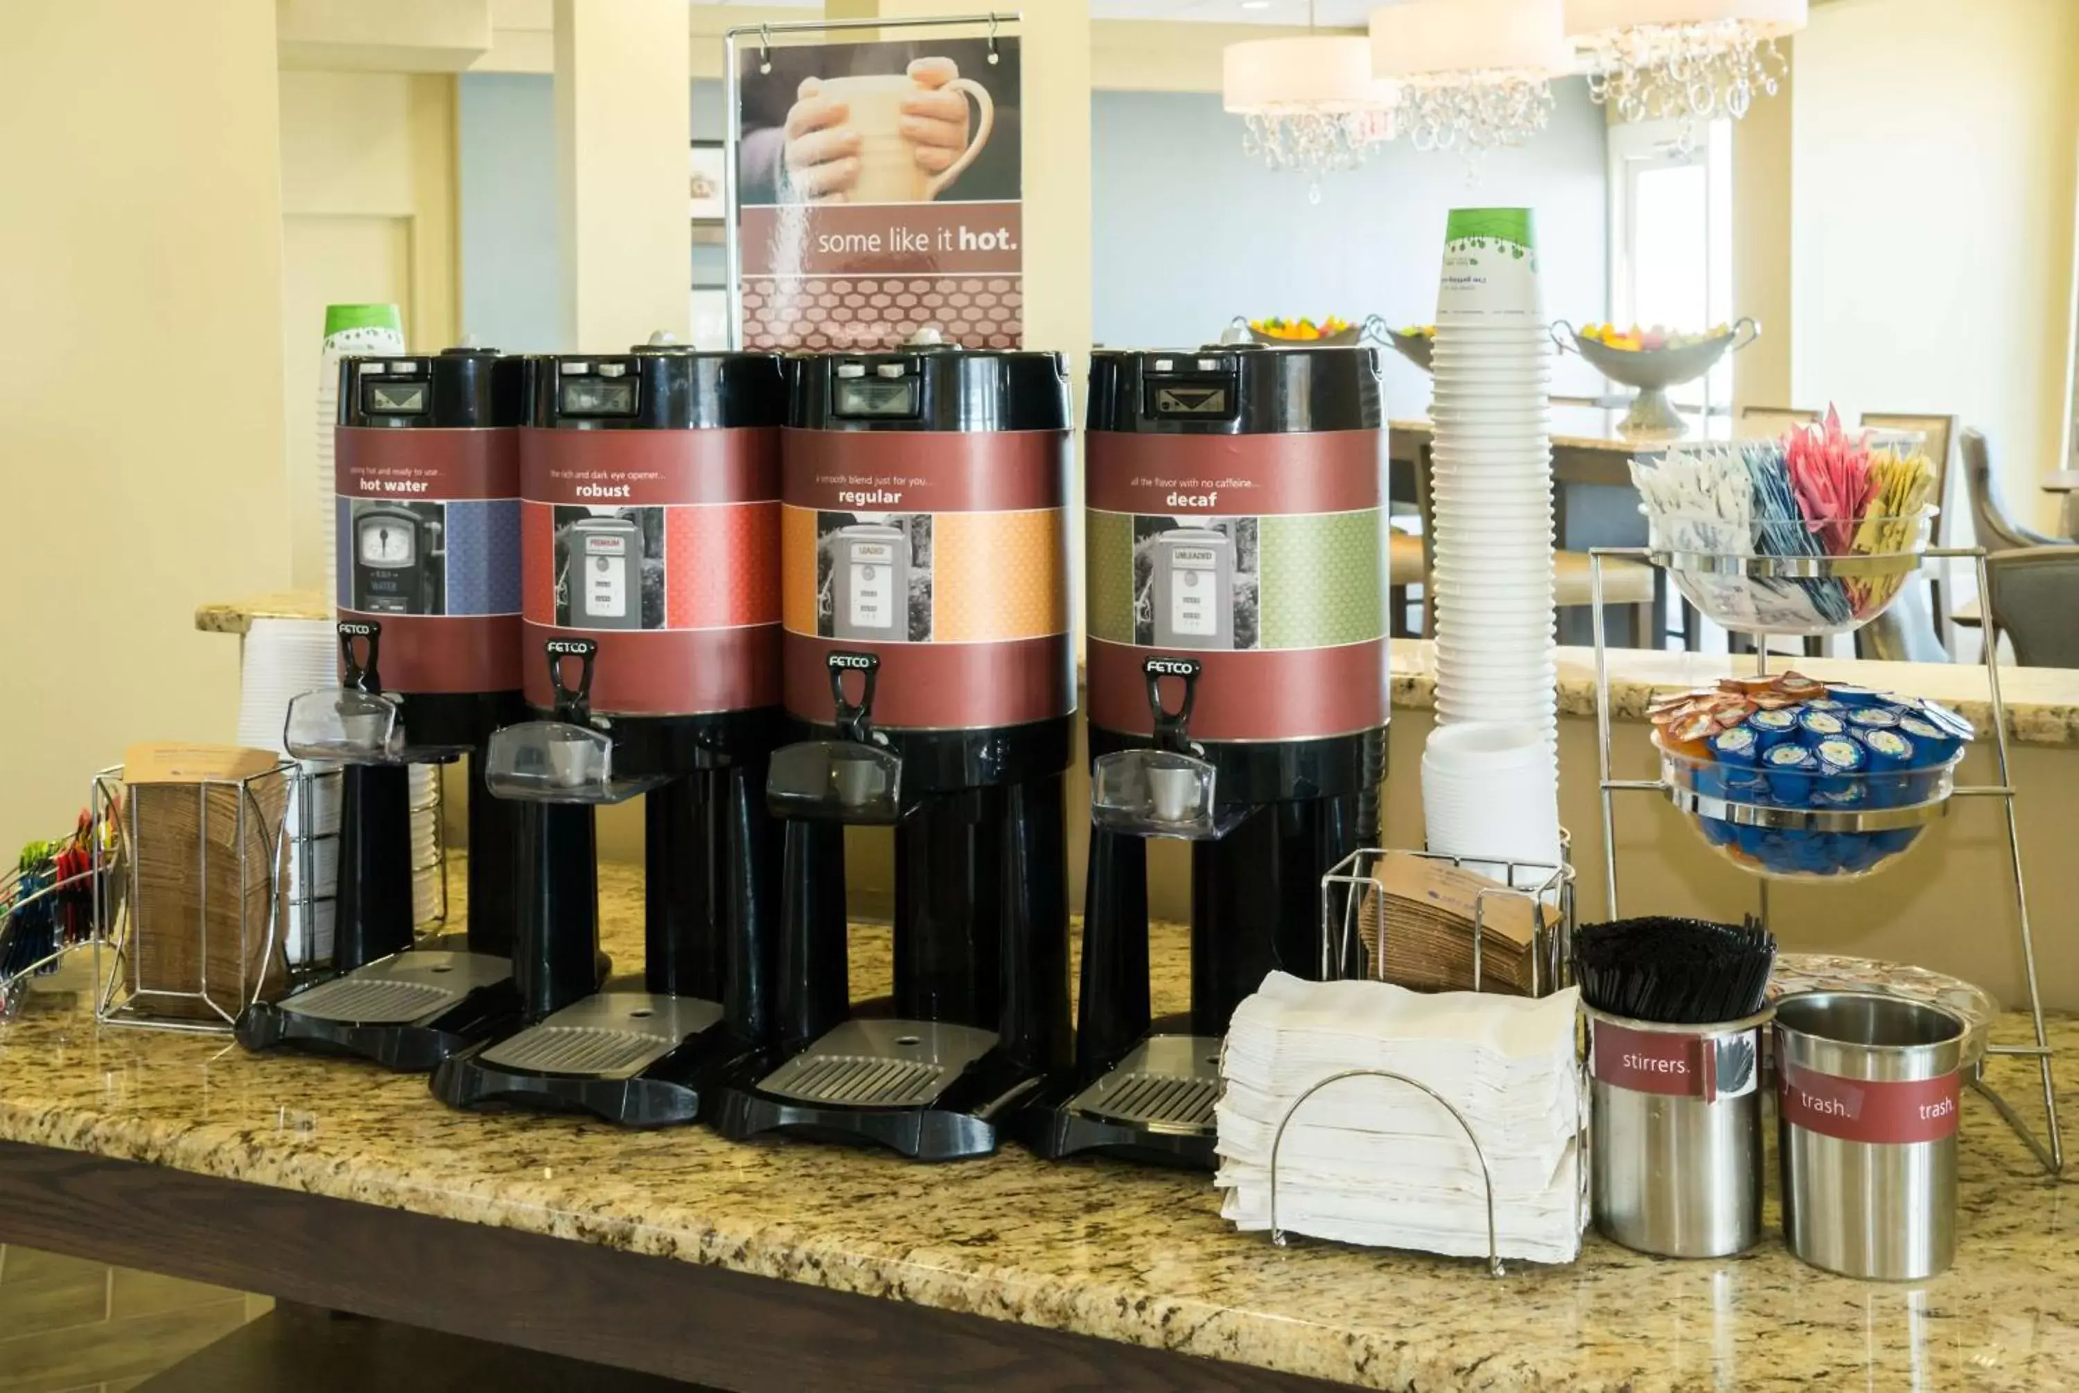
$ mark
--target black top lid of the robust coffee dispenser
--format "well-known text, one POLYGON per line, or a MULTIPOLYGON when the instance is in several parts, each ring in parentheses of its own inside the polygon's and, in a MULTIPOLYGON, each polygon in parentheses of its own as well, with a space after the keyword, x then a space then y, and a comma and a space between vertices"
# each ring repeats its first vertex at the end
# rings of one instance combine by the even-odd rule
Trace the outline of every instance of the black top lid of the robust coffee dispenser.
POLYGON ((530 424, 559 430, 778 426, 786 378, 773 353, 703 353, 651 335, 626 353, 530 360, 530 424))

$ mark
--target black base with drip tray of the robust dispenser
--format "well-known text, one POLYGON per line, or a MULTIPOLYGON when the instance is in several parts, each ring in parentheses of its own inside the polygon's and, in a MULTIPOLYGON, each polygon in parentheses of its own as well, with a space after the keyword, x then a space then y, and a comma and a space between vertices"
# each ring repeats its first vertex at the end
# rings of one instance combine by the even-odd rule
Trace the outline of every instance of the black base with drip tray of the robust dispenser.
POLYGON ((721 1008, 713 1002, 615 990, 565 1006, 528 1031, 484 1042, 443 1060, 432 1075, 432 1094, 451 1108, 582 1112, 615 1127, 684 1127, 701 1119, 715 1079, 751 1054, 753 1046, 721 1025, 721 1008), (647 1019, 657 1019, 672 1008, 692 1015, 699 1025, 632 1073, 620 1069, 572 1073, 528 1062, 541 1058, 538 1050, 528 1048, 530 1035, 536 1042, 555 1035, 574 1042, 578 1031, 593 1031, 593 1040, 599 1042, 595 1048, 611 1048, 605 1040, 607 1027, 590 1025, 586 1017, 649 1013, 647 1019))

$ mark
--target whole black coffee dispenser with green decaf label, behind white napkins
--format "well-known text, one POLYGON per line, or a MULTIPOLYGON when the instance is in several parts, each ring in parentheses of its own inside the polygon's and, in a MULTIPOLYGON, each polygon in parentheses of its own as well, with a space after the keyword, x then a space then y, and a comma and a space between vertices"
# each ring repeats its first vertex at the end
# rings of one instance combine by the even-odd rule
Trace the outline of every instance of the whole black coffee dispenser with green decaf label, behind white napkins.
POLYGON ((1322 975, 1320 877, 1378 844, 1385 778, 1378 374, 1368 347, 1091 358, 1089 882, 1073 1081, 1021 1119, 1042 1156, 1212 1168, 1229 1017, 1272 969, 1322 975), (1148 838, 1191 842, 1164 1021, 1148 838))

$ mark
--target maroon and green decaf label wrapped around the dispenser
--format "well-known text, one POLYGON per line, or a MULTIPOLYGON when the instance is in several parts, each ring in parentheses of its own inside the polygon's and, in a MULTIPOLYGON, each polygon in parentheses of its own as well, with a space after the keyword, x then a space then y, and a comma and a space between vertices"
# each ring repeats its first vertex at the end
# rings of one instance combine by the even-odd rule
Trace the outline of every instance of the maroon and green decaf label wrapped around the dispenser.
POLYGON ((1089 715, 1152 734, 1143 663, 1204 663, 1191 736, 1308 740, 1387 719, 1383 430, 1091 430, 1089 715))

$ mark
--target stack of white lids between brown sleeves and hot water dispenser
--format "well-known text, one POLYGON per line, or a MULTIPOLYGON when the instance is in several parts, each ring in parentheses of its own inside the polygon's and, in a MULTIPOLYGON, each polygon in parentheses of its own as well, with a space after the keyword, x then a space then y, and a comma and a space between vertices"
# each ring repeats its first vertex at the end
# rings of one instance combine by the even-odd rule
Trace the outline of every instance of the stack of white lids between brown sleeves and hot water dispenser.
MULTIPOLYGON (((339 684, 339 647, 328 620, 254 620, 239 669, 239 744, 283 748, 289 703, 339 684)), ((333 896, 339 892, 339 769, 301 761, 306 786, 289 798, 289 917, 283 925, 291 963, 333 950, 333 896)))

